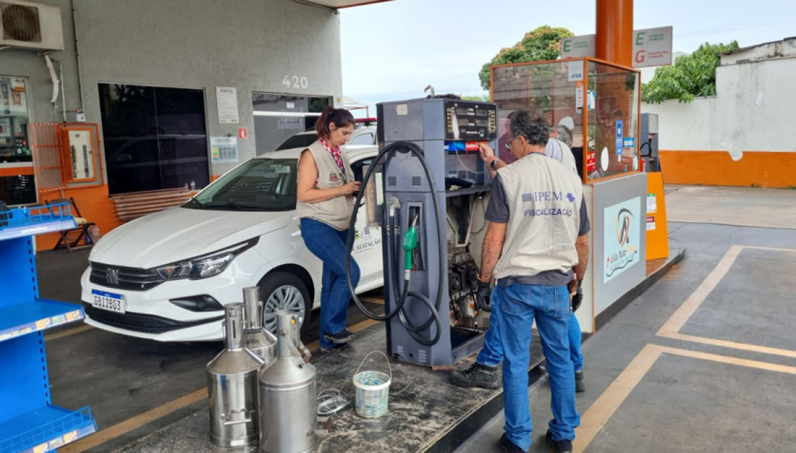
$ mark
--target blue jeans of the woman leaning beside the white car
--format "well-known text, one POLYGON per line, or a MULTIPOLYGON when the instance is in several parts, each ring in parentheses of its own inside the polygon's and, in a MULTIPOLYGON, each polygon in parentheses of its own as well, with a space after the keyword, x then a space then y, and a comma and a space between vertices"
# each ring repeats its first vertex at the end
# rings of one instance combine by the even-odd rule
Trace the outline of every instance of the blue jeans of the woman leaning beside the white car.
MULTIPOLYGON (((323 261, 321 281, 321 346, 334 347, 325 334, 338 334, 345 330, 351 292, 345 277, 345 242, 348 230, 338 231, 314 219, 301 219, 301 237, 306 248, 323 261)), ((359 266, 351 258, 351 281, 359 285, 359 266)))

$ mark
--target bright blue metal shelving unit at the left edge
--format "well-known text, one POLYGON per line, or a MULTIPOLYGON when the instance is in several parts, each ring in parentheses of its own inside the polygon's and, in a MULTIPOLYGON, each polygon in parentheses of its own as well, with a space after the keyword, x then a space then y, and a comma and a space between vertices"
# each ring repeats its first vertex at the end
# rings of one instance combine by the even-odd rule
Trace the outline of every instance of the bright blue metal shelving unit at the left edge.
POLYGON ((83 309, 39 298, 33 236, 76 228, 67 203, 0 211, 0 453, 45 453, 96 432, 89 408, 52 404, 44 331, 83 309))

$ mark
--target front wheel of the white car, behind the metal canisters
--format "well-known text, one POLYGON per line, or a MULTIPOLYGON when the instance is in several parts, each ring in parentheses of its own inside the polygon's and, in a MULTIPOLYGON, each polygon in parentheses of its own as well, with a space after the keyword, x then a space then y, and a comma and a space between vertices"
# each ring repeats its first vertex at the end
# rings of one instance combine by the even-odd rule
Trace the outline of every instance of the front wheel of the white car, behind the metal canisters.
POLYGON ((287 310, 298 315, 302 334, 309 325, 312 313, 310 292, 304 282, 292 273, 268 274, 259 283, 259 294, 263 299, 263 327, 276 332, 276 312, 287 310))

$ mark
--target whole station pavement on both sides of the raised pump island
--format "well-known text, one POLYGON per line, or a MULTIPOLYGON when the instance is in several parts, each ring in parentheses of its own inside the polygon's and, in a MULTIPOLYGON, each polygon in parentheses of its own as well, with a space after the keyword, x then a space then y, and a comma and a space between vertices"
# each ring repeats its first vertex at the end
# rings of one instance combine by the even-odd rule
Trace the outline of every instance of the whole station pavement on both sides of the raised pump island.
MULTIPOLYGON (((688 249, 685 261, 584 344, 576 451, 796 451, 796 231, 786 230, 794 227, 787 219, 796 192, 667 192, 673 219, 766 219, 777 228, 670 223, 672 238, 688 249)), ((37 257, 42 295, 79 303, 87 257, 87 250, 37 257)), ((362 333, 378 328, 351 316, 362 333)), ((218 343, 163 345, 88 326, 53 330, 46 340, 54 402, 91 405, 101 424, 87 443, 60 451, 115 451, 206 408, 197 370, 218 343)), ((548 451, 544 381, 530 395, 532 451, 548 451)), ((502 424, 497 416, 458 451, 499 451, 502 424)))

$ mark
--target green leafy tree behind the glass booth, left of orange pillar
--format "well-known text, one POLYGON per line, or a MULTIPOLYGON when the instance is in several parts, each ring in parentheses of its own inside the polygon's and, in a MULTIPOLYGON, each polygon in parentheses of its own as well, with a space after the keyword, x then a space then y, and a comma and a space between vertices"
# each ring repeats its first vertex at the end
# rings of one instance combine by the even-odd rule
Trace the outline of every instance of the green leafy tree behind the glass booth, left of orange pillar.
POLYGON ((513 47, 502 48, 489 63, 484 64, 478 76, 481 86, 490 91, 492 78, 491 66, 496 64, 528 63, 529 61, 556 60, 561 55, 561 39, 575 36, 564 27, 554 28, 542 25, 532 32, 525 33, 525 37, 513 47))

